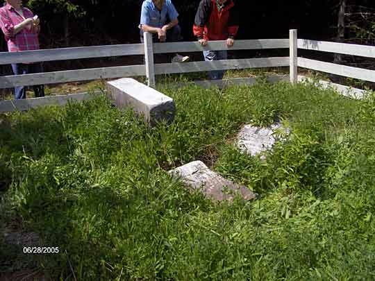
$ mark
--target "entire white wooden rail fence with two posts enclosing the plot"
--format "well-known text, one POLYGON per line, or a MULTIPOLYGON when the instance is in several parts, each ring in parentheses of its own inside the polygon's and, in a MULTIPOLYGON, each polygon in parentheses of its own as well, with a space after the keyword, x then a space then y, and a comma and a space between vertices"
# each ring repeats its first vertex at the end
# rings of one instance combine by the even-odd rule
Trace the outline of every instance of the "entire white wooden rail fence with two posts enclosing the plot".
POLYGON ((63 49, 22 51, 17 53, 2 52, 0 53, 1 65, 17 62, 46 62, 54 60, 76 60, 82 58, 104 58, 131 55, 144 55, 145 63, 144 65, 101 67, 94 69, 53 71, 40 74, 2 76, 0 77, 0 88, 9 88, 19 85, 67 83, 101 78, 120 78, 131 76, 146 76, 148 85, 154 87, 156 85, 155 76, 158 74, 176 74, 220 69, 247 69, 257 67, 290 67, 291 83, 297 83, 299 80, 301 80, 301 78, 298 76, 298 67, 375 82, 374 70, 335 65, 329 62, 321 62, 307 58, 299 58, 297 54, 298 49, 306 49, 375 58, 375 46, 302 40, 297 39, 297 30, 291 30, 289 39, 236 40, 235 45, 230 48, 230 50, 251 49, 290 49, 290 56, 219 60, 215 62, 200 61, 154 64, 153 56, 158 53, 189 53, 203 50, 216 51, 229 49, 226 46, 225 41, 209 42, 208 45, 204 47, 201 46, 199 42, 153 43, 151 34, 144 33, 144 44, 84 46, 63 49))

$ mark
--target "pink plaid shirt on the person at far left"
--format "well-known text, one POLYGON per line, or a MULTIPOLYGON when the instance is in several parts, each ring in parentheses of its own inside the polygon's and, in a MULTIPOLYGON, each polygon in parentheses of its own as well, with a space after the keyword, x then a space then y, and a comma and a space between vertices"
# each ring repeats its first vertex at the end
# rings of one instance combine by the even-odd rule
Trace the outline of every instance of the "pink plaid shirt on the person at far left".
POLYGON ((22 12, 24 17, 22 17, 22 15, 20 15, 19 12, 8 3, 6 6, 0 8, 0 28, 4 33, 8 44, 8 51, 10 52, 39 49, 39 26, 33 26, 31 24, 15 34, 15 26, 17 24, 23 22, 24 19, 34 16, 33 12, 27 8, 22 7, 22 12))

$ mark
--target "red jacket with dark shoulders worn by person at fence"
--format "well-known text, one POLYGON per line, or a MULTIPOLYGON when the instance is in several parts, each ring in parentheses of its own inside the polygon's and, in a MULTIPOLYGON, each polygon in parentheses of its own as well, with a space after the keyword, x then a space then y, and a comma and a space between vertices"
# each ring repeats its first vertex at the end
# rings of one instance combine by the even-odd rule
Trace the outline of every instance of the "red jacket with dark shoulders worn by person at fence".
POLYGON ((217 0, 201 0, 195 15, 193 32, 198 39, 226 40, 238 32, 238 10, 233 0, 227 0, 221 11, 217 0))

